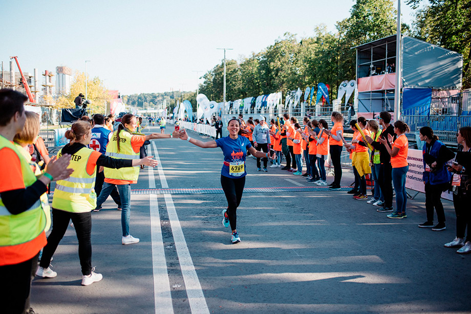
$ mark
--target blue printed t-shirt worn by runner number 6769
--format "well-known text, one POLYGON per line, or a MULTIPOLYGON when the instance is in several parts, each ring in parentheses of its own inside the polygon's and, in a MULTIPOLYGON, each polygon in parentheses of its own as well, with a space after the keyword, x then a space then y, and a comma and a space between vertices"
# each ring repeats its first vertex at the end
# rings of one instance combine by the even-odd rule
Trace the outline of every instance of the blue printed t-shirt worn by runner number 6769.
POLYGON ((221 169, 221 175, 230 177, 230 178, 240 178, 247 174, 245 171, 245 157, 247 156, 247 149, 252 147, 249 139, 239 136, 237 139, 233 140, 229 136, 225 138, 220 138, 216 140, 216 145, 221 147, 221 150, 224 154, 224 161, 227 163, 243 163, 244 164, 244 173, 241 175, 231 175, 229 174, 229 166, 223 165, 221 169))

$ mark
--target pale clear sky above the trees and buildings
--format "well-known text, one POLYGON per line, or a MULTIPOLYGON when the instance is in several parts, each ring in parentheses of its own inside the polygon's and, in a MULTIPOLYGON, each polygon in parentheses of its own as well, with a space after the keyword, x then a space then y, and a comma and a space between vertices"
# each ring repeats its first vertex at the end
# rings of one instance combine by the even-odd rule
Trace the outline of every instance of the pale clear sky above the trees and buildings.
MULTIPOLYGON (((218 48, 241 60, 286 32, 313 36, 319 24, 335 32, 354 3, 0 0, 0 62, 9 71, 10 56, 18 56, 23 72, 55 73, 56 66, 84 72, 89 60, 89 78, 122 95, 195 91, 199 77, 223 59, 218 48)), ((413 10, 402 3, 401 11, 410 24, 413 10)))

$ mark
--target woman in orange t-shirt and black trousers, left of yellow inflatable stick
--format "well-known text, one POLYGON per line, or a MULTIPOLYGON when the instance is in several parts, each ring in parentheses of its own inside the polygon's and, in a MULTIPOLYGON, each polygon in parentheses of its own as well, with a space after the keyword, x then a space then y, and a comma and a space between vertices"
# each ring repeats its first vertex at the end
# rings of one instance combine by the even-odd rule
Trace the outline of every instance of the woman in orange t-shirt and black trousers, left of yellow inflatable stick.
POLYGON ((330 131, 326 131, 330 136, 330 159, 332 160, 332 165, 334 166, 334 182, 330 184, 329 189, 340 190, 340 181, 342 179, 342 164, 340 161, 340 156, 342 154, 343 146, 341 137, 344 134, 344 116, 334 111, 332 113, 331 120, 334 126, 330 131))

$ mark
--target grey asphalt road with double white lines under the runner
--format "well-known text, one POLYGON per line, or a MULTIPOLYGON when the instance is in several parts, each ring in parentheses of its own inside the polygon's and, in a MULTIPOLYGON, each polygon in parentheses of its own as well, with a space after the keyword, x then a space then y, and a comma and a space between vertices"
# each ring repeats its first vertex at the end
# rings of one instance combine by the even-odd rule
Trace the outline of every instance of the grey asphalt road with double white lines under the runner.
MULTIPOLYGON (((80 285, 70 227, 52 262, 58 276, 33 281, 36 312, 471 311, 471 255, 443 247, 455 237, 451 202, 443 201, 447 229, 433 232, 417 227, 425 221, 421 194, 408 200, 408 218, 388 219, 345 191, 302 191, 313 187, 302 177, 279 168, 257 172, 248 158, 238 209, 242 242, 231 244, 221 223, 227 206, 218 190, 221 150, 178 139, 152 142, 149 154, 160 165, 141 170, 132 186, 130 232, 140 242, 121 244, 121 213, 110 197, 92 213, 92 264, 103 280, 80 285), (284 187, 301 191, 276 189, 284 187), (167 188, 175 190, 163 193, 167 188)), ((352 181, 344 170, 342 186, 352 181)))

